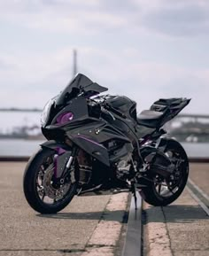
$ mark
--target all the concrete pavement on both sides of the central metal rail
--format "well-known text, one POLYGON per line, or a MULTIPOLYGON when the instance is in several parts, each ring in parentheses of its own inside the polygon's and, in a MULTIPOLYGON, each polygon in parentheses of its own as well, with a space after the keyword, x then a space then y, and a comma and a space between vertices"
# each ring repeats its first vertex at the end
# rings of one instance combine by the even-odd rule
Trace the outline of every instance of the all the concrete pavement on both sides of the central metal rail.
MULTIPOLYGON (((120 255, 128 194, 75 197, 62 212, 41 215, 23 195, 25 165, 0 162, 0 256, 120 255)), ((191 164, 190 179, 208 194, 209 165, 191 164)), ((143 209, 143 255, 209 255, 209 218, 188 190, 171 206, 143 209)))

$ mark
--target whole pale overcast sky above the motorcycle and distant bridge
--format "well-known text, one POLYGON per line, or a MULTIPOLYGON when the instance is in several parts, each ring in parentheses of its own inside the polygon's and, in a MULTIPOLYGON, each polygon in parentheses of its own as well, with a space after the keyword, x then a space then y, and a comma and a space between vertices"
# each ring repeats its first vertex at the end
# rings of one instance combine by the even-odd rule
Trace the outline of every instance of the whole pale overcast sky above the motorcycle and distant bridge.
POLYGON ((0 0, 0 107, 40 107, 78 71, 135 99, 209 114, 209 1, 0 0))

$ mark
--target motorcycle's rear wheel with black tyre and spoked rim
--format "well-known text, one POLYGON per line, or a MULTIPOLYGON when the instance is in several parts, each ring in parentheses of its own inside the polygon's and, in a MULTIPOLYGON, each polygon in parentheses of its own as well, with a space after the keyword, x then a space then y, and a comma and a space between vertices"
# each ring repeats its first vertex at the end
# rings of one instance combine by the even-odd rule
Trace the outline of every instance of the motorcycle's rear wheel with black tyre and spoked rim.
POLYGON ((146 181, 146 187, 140 193, 144 201, 152 206, 167 206, 174 202, 182 194, 188 180, 189 161, 182 145, 170 139, 167 141, 164 153, 176 166, 174 170, 176 181, 171 186, 171 181, 163 179, 159 175, 149 176, 150 180, 146 181))

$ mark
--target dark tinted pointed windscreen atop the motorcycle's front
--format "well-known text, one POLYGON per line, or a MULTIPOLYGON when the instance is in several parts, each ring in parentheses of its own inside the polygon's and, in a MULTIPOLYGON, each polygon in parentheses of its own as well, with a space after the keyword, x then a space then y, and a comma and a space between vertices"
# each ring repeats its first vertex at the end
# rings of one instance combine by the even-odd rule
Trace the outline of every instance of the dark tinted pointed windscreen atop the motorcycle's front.
POLYGON ((98 85, 96 82, 91 81, 84 74, 76 74, 74 79, 66 86, 56 100, 57 105, 65 105, 67 101, 76 97, 82 91, 91 97, 100 92, 104 92, 107 88, 98 85))

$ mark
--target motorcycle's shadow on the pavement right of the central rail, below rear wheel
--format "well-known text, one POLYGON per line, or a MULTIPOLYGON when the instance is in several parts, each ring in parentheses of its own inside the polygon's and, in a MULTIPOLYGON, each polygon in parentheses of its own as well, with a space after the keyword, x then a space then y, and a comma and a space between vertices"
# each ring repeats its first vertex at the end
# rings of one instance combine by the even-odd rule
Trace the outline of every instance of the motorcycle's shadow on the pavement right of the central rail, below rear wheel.
POLYGON ((174 222, 193 223, 199 220, 208 220, 208 216, 200 206, 171 205, 156 207, 150 206, 143 210, 146 223, 149 222, 174 222))

